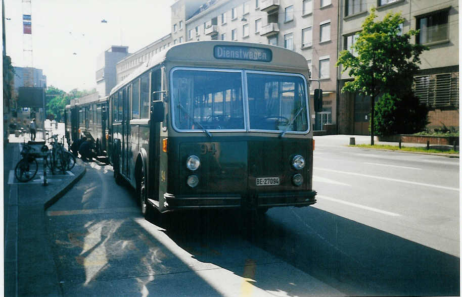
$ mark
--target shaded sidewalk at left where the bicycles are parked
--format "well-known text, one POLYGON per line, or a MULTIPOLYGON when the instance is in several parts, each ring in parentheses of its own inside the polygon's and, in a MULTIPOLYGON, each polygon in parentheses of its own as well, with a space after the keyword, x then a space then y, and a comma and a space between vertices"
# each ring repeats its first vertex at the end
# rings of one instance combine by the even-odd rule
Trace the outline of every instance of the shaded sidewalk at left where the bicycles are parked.
POLYGON ((5 296, 59 296, 62 293, 49 251, 44 211, 82 178, 85 166, 77 159, 65 175, 48 173, 49 185, 44 186, 39 161, 34 179, 20 183, 14 177, 19 143, 13 141, 22 140, 11 137, 10 141, 4 145, 5 296))

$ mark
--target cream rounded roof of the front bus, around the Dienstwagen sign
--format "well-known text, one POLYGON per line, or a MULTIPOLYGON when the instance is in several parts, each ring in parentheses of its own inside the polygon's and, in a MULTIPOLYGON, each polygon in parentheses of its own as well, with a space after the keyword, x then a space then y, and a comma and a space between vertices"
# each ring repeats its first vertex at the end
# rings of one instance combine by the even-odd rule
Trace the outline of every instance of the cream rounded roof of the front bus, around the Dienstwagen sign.
MULTIPOLYGON (((172 61, 177 63, 198 63, 198 64, 220 64, 222 66, 229 65, 230 68, 236 64, 252 65, 252 69, 274 68, 284 69, 286 71, 308 72, 308 64, 305 57, 295 53, 294 51, 287 50, 287 48, 274 46, 262 43, 251 42, 237 42, 237 41, 222 41, 222 40, 207 40, 207 41, 191 41, 176 44, 168 50, 159 52, 154 55, 148 62, 143 63, 140 67, 136 68, 129 74, 123 81, 118 83, 112 88, 110 95, 112 95, 120 87, 126 85, 137 76, 148 71, 152 67, 161 64, 164 61, 172 61), (215 52, 216 46, 224 49, 221 54, 215 52), (248 53, 245 51, 247 48, 253 48, 254 51, 249 59, 248 53), (244 50, 244 51, 242 51, 244 50), (269 50, 269 52, 268 52, 269 50), (240 51, 234 56, 233 52, 240 51), (259 54, 260 53, 260 54, 259 54), (270 53, 271 58, 264 56, 267 59, 259 59, 261 55, 270 53), (228 54, 226 56, 226 54, 228 54), (217 57, 221 55, 220 57, 217 57), (269 60, 269 61, 268 61, 269 60)), ((205 65, 204 65, 205 66, 205 65)))

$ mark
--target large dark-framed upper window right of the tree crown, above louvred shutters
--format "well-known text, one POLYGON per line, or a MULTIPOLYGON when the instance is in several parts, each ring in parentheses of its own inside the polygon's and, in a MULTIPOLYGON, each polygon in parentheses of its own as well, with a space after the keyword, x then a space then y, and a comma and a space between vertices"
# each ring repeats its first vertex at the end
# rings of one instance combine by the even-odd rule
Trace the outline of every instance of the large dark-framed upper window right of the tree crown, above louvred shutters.
POLYGON ((448 40, 448 14, 449 11, 444 10, 431 15, 418 17, 417 29, 420 31, 419 34, 417 34, 417 40, 419 40, 419 43, 425 44, 448 40))

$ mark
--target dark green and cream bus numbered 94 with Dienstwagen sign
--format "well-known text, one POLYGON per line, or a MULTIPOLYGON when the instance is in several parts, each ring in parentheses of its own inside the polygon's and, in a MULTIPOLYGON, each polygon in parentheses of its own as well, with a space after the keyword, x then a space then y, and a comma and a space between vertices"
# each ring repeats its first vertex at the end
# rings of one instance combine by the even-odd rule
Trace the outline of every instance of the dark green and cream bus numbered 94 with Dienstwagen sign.
POLYGON ((316 203, 306 59, 286 48, 194 41, 153 56, 109 94, 117 183, 145 217, 316 203))

